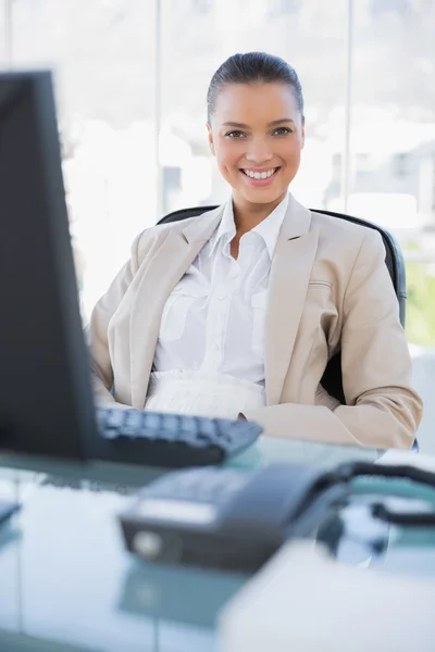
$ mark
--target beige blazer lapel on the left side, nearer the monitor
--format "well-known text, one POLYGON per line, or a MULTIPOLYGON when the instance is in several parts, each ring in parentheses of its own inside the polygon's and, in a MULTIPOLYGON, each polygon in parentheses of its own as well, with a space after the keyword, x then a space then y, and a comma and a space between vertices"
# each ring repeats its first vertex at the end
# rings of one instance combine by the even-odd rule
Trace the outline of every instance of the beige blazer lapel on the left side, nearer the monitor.
POLYGON ((148 263, 139 281, 130 318, 132 405, 145 404, 160 321, 171 291, 187 272, 221 221, 223 206, 195 217, 182 230, 174 225, 148 263))

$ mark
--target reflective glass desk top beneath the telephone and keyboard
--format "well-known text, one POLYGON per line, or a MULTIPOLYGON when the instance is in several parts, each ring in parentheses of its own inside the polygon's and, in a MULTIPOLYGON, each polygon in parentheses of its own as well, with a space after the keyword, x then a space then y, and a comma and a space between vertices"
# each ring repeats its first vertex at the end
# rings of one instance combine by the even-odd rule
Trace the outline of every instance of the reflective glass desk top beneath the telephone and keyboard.
MULTIPOLYGON (((333 466, 377 456, 374 450, 263 438, 231 465, 333 466)), ((0 527, 1 652, 217 652, 216 615, 248 577, 151 566, 124 550, 116 514, 162 473, 0 455, 0 499, 23 503, 0 527)), ((361 512, 360 500, 356 491, 352 509, 361 512)), ((403 540, 388 527, 381 556, 358 544, 357 531, 338 542, 338 559, 432 573, 435 580, 435 531, 408 530, 403 540)))

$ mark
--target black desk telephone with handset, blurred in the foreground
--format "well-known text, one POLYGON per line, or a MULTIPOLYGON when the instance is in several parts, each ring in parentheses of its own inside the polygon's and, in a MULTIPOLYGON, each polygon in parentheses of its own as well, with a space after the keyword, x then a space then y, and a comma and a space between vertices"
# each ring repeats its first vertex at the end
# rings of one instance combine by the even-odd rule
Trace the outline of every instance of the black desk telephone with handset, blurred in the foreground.
MULTIPOLYGON (((252 572, 286 539, 313 537, 331 511, 346 504, 350 480, 358 476, 405 478, 435 488, 433 473, 366 462, 331 471, 297 464, 254 473, 192 468, 151 482, 120 521, 128 550, 149 562, 252 572)), ((378 501, 372 506, 376 518, 435 526, 432 510, 389 514, 378 501)))

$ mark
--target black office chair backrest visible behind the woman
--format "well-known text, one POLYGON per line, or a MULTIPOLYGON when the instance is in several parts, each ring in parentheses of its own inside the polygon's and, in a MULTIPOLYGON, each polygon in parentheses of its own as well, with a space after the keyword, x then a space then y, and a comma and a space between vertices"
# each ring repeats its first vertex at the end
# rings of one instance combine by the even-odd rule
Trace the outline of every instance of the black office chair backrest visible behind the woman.
MULTIPOLYGON (((197 215, 212 211, 215 208, 216 206, 196 206, 191 209, 174 211, 173 213, 170 213, 160 220, 159 224, 167 224, 169 222, 179 222, 182 220, 187 220, 188 217, 196 217, 197 215)), ((360 220, 359 217, 352 217, 351 215, 344 215, 343 213, 333 213, 331 211, 321 211, 316 209, 312 209, 312 211, 315 213, 323 213, 324 215, 331 215, 332 217, 337 217, 338 220, 346 220, 347 222, 352 222, 353 224, 359 224, 361 226, 365 226, 366 228, 374 228, 381 234, 386 251, 385 264, 391 277, 393 286, 399 302, 400 322, 402 326, 405 326, 407 301, 406 271, 403 255, 395 237, 377 224, 365 222, 365 220, 360 220)), ((339 352, 336 353, 327 363, 322 378, 322 385, 331 396, 338 399, 338 401, 341 403, 346 403, 343 391, 341 355, 339 352)))

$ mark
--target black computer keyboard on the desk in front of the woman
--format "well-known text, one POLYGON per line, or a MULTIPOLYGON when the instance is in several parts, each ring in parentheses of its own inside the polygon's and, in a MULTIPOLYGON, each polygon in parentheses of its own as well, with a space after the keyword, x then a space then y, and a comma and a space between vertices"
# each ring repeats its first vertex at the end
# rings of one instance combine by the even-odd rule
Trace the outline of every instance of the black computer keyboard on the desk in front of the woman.
POLYGON ((117 408, 98 408, 97 425, 104 459, 110 453, 120 462, 166 468, 220 464, 251 446, 262 431, 257 423, 243 419, 117 408))

